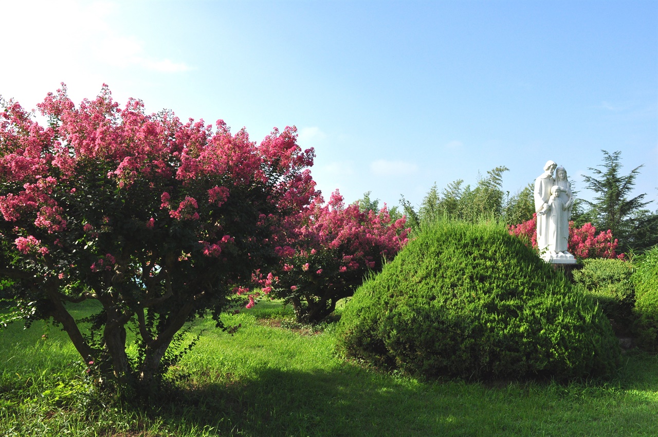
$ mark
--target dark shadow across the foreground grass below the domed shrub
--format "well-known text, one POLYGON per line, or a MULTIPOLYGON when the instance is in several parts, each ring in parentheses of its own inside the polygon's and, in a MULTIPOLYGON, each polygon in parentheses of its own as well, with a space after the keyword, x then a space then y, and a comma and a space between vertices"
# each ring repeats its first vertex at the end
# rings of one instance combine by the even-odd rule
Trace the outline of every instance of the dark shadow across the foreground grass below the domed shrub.
POLYGON ((647 396, 586 384, 420 383, 350 366, 309 373, 264 368, 253 380, 180 390, 146 415, 170 430, 211 435, 649 436, 658 415, 655 383, 655 396, 651 388, 647 396))

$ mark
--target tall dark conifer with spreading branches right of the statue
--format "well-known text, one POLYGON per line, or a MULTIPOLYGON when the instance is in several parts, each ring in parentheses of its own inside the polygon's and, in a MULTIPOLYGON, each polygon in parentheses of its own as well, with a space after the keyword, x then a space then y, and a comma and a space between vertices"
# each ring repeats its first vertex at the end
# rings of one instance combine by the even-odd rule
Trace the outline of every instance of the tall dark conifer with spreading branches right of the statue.
MULTIPOLYGON (((640 194, 629 198, 635 186, 635 179, 640 174, 640 165, 625 176, 620 174, 621 152, 603 152, 603 165, 599 168, 591 168, 594 176, 583 176, 587 186, 596 196, 594 201, 584 203, 591 209, 590 215, 594 225, 599 229, 609 229, 613 235, 619 238, 620 246, 625 251, 632 248, 635 222, 634 215, 640 213, 643 207, 649 204, 644 201, 646 194, 640 194)), ((651 220, 649 220, 650 222, 651 220)), ((650 224, 649 224, 650 226, 650 224)))

